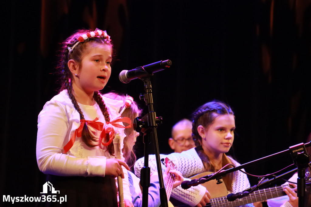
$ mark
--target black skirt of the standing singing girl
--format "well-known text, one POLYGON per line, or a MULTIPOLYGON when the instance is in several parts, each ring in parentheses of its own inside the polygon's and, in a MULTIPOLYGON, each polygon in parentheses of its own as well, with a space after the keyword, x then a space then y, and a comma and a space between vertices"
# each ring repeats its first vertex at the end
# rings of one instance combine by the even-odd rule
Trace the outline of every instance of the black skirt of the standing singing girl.
POLYGON ((41 194, 41 202, 38 203, 38 206, 118 206, 115 179, 110 176, 63 177, 47 175, 47 182, 50 182, 54 190, 59 191, 59 193, 52 193, 49 187, 48 193, 41 194), (42 202, 42 198, 45 202, 42 202))

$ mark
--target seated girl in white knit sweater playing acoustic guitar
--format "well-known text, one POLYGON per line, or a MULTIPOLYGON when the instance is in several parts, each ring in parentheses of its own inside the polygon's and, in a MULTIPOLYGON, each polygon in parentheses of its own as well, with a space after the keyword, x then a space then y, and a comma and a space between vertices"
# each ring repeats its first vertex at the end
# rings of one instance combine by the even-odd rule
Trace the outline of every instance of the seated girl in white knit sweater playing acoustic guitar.
MULTIPOLYGON (((230 106, 220 102, 208 102, 195 110, 192 116, 192 137, 196 147, 182 153, 160 155, 168 157, 174 162, 176 169, 185 178, 203 172, 217 172, 227 164, 240 165, 227 153, 234 140, 235 120, 230 106)), ((156 171, 154 155, 149 155, 149 167, 156 171)), ((134 165, 135 174, 140 176, 140 169, 144 166, 144 158, 138 159, 134 165)), ((165 166, 162 165, 163 170, 165 166)), ((232 168, 232 166, 228 166, 232 168)), ((213 182, 213 181, 210 181, 213 182)), ((223 178, 225 193, 237 193, 247 189, 250 184, 247 175, 235 171, 223 178)), ((215 190, 215 189, 214 189, 215 190)), ((210 190, 208 190, 210 191, 210 190)), ((211 198, 205 187, 198 185, 187 190, 177 186, 172 190, 171 196, 190 206, 205 206, 211 198)), ((217 190, 216 190, 217 191, 217 190)), ((247 206, 253 206, 248 204, 247 206)))

